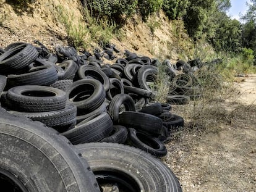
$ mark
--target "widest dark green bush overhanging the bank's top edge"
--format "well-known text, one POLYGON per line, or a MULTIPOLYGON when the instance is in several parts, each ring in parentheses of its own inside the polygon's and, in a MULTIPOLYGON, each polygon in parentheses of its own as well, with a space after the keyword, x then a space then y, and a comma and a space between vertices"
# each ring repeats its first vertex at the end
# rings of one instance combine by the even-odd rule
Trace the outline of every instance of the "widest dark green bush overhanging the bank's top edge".
POLYGON ((85 0, 82 3, 92 16, 117 23, 135 13, 137 0, 85 0))

